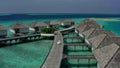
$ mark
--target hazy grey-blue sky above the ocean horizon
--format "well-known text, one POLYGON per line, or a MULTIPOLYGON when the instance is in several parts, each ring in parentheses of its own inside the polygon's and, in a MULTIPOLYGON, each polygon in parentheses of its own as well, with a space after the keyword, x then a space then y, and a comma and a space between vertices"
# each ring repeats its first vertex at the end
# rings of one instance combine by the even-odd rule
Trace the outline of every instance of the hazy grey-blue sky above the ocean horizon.
POLYGON ((0 13, 120 14, 120 0, 0 0, 0 13))

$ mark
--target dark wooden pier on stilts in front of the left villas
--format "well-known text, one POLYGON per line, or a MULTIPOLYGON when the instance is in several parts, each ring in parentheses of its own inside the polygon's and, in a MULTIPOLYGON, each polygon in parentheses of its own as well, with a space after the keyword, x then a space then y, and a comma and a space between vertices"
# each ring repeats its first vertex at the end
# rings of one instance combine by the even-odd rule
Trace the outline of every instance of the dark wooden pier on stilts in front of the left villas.
POLYGON ((10 38, 0 38, 0 44, 1 44, 0 47, 12 45, 12 44, 29 42, 33 40, 39 40, 40 38, 41 38, 41 34, 30 34, 30 35, 14 36, 10 38))

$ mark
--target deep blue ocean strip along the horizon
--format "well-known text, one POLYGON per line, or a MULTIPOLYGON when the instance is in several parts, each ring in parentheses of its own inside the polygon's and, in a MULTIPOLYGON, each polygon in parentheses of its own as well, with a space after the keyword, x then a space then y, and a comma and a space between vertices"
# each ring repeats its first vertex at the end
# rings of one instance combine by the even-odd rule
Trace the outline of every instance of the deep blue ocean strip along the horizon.
POLYGON ((118 18, 115 14, 72 14, 72 13, 41 13, 41 14, 0 14, 0 20, 19 19, 56 19, 56 18, 118 18))

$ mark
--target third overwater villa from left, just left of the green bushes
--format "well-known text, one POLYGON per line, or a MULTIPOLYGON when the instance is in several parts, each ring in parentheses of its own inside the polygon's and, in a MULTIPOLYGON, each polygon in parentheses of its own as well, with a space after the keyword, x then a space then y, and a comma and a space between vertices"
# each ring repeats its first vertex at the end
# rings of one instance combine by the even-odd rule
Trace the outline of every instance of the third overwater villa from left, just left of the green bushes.
POLYGON ((43 28, 48 28, 49 25, 43 22, 33 22, 29 25, 30 27, 35 29, 35 32, 40 32, 43 28))

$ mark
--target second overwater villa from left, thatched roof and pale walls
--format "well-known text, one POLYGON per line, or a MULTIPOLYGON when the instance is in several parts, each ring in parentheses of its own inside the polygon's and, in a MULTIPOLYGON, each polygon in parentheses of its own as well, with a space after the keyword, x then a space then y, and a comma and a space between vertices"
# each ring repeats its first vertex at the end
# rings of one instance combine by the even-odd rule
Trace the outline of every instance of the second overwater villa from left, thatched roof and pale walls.
POLYGON ((12 24, 10 28, 14 30, 15 34, 28 34, 29 33, 29 27, 22 22, 12 24))

